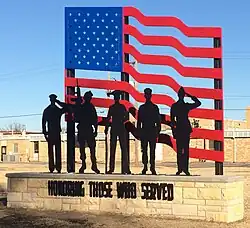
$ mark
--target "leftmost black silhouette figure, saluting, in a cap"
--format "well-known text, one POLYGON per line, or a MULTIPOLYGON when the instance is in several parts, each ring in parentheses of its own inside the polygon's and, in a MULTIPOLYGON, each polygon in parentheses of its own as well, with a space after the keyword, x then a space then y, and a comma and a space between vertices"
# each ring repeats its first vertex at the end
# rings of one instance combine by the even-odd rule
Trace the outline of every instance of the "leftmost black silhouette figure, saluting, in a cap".
POLYGON ((51 173, 56 169, 58 173, 62 169, 61 161, 61 117, 67 109, 56 106, 55 94, 49 96, 51 104, 44 110, 42 116, 42 131, 48 142, 49 170, 51 173), (48 127, 46 127, 48 125, 48 127), (55 158, 53 146, 55 146, 55 158))

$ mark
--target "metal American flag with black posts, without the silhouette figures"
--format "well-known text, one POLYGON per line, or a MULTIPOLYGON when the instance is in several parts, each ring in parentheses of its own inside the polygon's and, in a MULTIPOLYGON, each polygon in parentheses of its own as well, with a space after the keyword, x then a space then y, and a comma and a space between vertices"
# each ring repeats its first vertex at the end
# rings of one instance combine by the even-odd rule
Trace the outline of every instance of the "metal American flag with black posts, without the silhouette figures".
MULTIPOLYGON (((129 56, 138 63, 170 66, 183 77, 207 78, 214 80, 214 88, 184 87, 185 91, 198 98, 214 100, 213 109, 198 108, 189 117, 214 120, 214 130, 194 128, 191 138, 214 140, 214 150, 190 148, 190 157, 213 160, 216 174, 223 174, 223 88, 222 88, 222 48, 221 28, 189 27, 180 19, 168 16, 145 16, 134 7, 69 7, 65 9, 65 99, 75 96, 77 83, 80 87, 115 90, 131 95, 138 102, 144 102, 143 94, 128 82, 129 75, 139 83, 165 85, 178 92, 181 85, 168 75, 140 73, 129 64, 129 56), (143 35, 128 23, 129 17, 144 26, 173 27, 187 37, 212 38, 214 47, 187 47, 172 36, 143 35), (140 53, 136 46, 129 44, 129 36, 143 45, 169 46, 177 49, 185 57, 213 58, 213 68, 183 66, 174 57, 140 53), (76 78, 75 69, 121 72, 121 81, 76 78)), ((167 94, 155 94, 155 104, 171 107, 175 100, 167 94)), ((108 108, 113 101, 107 98, 93 98, 97 107, 108 108)), ((128 110, 136 110, 128 99, 122 100, 128 110)), ((132 112, 131 112, 132 114, 132 112)), ((136 118, 136 111, 133 112, 136 118)), ((162 123, 170 120, 169 115, 161 115, 162 123)), ((100 124, 102 118, 99 117, 100 124)), ((70 120, 68 120, 70 122, 70 120)), ((69 125, 70 127, 70 125, 69 125)), ((72 128, 72 127, 71 127, 72 128)), ((161 135, 159 142, 166 143, 176 150, 175 140, 161 135)))

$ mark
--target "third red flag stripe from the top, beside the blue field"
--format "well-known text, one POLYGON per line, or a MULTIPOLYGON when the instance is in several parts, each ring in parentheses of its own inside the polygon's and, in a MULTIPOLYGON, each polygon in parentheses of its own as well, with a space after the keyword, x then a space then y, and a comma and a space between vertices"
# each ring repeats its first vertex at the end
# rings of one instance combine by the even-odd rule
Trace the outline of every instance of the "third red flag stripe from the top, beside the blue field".
POLYGON ((139 63, 170 66, 184 77, 222 78, 220 68, 185 67, 171 56, 141 54, 134 46, 125 43, 123 44, 123 51, 132 55, 139 63))

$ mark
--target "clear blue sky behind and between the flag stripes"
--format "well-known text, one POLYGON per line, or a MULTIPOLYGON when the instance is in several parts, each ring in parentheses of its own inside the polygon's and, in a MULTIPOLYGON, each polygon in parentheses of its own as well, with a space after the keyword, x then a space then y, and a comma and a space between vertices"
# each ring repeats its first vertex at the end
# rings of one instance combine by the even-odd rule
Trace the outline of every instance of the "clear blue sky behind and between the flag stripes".
MULTIPOLYGON (((225 117, 244 119, 244 109, 250 105, 250 33, 247 0, 2 0, 0 3, 0 117, 42 113, 48 105, 48 95, 64 99, 64 7, 66 6, 135 6, 145 15, 176 16, 190 26, 220 26, 223 29, 223 67, 225 117)), ((131 24, 144 34, 173 35, 185 45, 210 46, 211 39, 185 37, 173 28, 146 28, 136 20, 131 24)), ((175 56, 183 65, 212 67, 211 60, 186 59, 172 48, 143 47, 135 39, 131 43, 143 53, 175 56)), ((184 86, 212 87, 207 79, 187 79, 170 67, 138 66, 142 72, 164 73, 173 76, 184 86)), ((107 78, 105 72, 80 72, 80 76, 107 78)), ((117 73, 112 77, 119 78, 117 73)), ((144 87, 140 86, 142 91, 144 87)), ((153 87, 155 93, 175 96, 171 89, 153 87)), ((83 91, 84 92, 84 91, 83 91)), ((96 96, 102 96, 94 90, 96 96)), ((203 102, 210 107, 212 102, 203 102)), ((163 107, 162 112, 168 109, 163 107)), ((41 116, 0 118, 0 127, 11 122, 26 124, 29 130, 40 130, 41 116)))

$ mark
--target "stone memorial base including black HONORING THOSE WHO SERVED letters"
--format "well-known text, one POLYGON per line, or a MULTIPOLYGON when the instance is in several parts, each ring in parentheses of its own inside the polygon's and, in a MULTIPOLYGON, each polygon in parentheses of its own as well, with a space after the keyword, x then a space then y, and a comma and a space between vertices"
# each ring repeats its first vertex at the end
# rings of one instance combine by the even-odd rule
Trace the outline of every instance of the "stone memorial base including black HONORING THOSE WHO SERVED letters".
POLYGON ((9 173, 8 207, 234 222, 242 177, 9 173))

